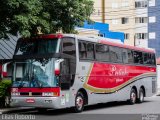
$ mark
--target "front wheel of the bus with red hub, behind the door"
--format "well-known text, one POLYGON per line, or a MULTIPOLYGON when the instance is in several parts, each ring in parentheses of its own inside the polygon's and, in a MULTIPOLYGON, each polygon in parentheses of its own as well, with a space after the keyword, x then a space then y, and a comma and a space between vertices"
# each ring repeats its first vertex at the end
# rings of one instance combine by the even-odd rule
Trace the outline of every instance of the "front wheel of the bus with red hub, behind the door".
POLYGON ((82 112, 84 109, 84 103, 85 103, 84 95, 81 92, 78 92, 75 98, 74 111, 76 113, 82 112))

